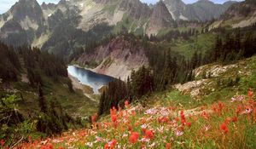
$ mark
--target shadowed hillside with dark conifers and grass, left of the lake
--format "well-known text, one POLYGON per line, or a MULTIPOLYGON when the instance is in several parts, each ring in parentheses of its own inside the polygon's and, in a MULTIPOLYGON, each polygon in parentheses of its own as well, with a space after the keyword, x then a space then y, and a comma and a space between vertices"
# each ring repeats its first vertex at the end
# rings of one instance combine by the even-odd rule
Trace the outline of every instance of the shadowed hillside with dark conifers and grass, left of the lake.
POLYGON ((88 123, 96 112, 96 103, 82 91, 73 90, 61 58, 3 43, 0 49, 0 138, 7 140, 6 145, 15 146, 28 136, 60 134, 88 123))

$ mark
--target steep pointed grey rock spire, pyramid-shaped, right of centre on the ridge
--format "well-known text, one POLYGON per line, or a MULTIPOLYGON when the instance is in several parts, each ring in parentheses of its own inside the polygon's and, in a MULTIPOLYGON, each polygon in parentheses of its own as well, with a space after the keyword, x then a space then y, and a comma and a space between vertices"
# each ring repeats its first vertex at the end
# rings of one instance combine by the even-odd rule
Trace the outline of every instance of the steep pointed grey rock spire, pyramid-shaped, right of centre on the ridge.
POLYGON ((162 28, 172 27, 174 20, 172 19, 172 14, 166 8, 165 3, 160 1, 154 7, 153 13, 150 16, 148 23, 147 34, 157 34, 162 28))

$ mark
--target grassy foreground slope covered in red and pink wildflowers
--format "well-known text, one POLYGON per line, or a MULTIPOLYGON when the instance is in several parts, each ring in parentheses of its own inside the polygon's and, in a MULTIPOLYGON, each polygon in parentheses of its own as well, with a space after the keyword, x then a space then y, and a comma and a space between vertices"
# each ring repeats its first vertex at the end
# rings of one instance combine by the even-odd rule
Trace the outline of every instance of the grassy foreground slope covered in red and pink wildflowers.
POLYGON ((201 92, 205 95, 194 98, 191 92, 170 89, 148 96, 147 103, 129 105, 126 101, 125 110, 112 109, 110 117, 102 117, 96 122, 97 117, 93 116, 92 129, 70 131, 47 140, 29 140, 20 146, 255 148, 255 65, 256 57, 253 56, 233 66, 203 66, 195 72, 213 72, 212 77, 207 78, 210 83, 202 85, 201 92), (234 72, 238 72, 238 81, 233 78, 234 72), (235 81, 218 84, 218 79, 226 78, 235 81), (213 89, 209 85, 213 85, 213 89))

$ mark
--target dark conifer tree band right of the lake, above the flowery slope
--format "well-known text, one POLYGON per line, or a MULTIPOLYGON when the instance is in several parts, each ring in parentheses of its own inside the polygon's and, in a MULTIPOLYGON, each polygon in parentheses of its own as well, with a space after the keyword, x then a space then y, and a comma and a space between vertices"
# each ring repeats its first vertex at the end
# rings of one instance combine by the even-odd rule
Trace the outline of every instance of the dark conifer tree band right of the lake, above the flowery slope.
POLYGON ((212 62, 227 63, 253 56, 256 53, 256 36, 255 32, 251 32, 254 27, 250 26, 242 31, 212 31, 218 32, 212 49, 205 54, 196 51, 190 60, 172 49, 149 43, 148 38, 144 37, 141 44, 146 49, 149 66, 143 66, 137 72, 132 71, 126 82, 116 80, 109 83, 101 96, 98 114, 108 113, 113 106, 122 107, 125 100, 143 100, 143 95, 166 90, 175 83, 192 81, 195 79, 193 70, 198 66, 212 62))

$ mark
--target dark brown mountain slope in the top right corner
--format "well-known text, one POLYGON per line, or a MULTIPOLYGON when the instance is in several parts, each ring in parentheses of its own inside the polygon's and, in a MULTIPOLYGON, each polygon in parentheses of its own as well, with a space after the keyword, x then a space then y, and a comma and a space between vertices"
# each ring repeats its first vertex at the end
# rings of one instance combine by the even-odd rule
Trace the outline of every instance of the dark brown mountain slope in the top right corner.
POLYGON ((230 7, 211 27, 230 26, 232 28, 252 26, 256 23, 256 2, 246 0, 230 7))

